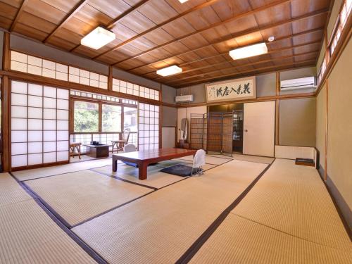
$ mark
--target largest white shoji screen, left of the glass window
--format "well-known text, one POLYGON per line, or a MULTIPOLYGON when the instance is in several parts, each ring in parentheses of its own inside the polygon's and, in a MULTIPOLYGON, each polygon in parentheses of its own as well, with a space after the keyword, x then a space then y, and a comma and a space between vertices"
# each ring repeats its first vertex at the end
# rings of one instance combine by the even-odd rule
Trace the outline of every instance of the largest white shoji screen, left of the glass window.
POLYGON ((11 167, 68 161, 67 89, 11 82, 11 167))

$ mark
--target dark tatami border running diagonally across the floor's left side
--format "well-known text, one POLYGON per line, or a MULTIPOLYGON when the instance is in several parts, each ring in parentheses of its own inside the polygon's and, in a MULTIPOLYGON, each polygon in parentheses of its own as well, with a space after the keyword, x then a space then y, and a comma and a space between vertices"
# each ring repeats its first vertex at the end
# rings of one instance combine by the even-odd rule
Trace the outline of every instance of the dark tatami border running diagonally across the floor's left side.
MULTIPOLYGON (((58 225, 58 227, 61 228, 61 230, 63 230, 63 232, 65 232, 66 234, 68 234, 68 236, 73 239, 73 241, 75 241, 85 252, 87 252, 87 254, 89 256, 91 256, 94 260, 96 260, 97 263, 99 264, 107 264, 108 262, 106 262, 106 260, 104 260, 99 253, 96 253, 96 251, 94 251, 88 244, 86 244, 82 239, 80 239, 80 237, 77 236, 77 234, 75 234, 74 232, 72 232, 70 230, 70 228, 68 228, 67 226, 65 226, 63 224, 63 222, 61 222, 60 218, 57 218, 57 213, 54 214, 53 212, 51 212, 51 210, 49 210, 49 208, 46 207, 46 205, 43 203, 42 199, 40 199, 34 191, 32 191, 29 187, 27 187, 27 185, 23 182, 20 182, 11 172, 9 172, 9 174, 11 175, 11 177, 13 177, 13 179, 15 179, 16 182, 18 182, 18 184, 20 184, 20 187, 22 187, 27 194, 29 194, 33 200, 38 204, 38 206, 40 206, 40 208, 42 208, 44 210, 44 212, 49 215, 49 217, 51 218, 51 220, 53 220, 56 225, 58 225)), ((55 212, 55 211, 54 211, 55 212)))

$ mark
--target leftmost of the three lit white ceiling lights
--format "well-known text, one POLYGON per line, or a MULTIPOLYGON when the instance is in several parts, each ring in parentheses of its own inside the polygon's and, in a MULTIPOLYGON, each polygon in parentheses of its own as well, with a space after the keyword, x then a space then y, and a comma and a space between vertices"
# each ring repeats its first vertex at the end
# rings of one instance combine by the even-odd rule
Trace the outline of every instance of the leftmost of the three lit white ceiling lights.
POLYGON ((115 33, 103 27, 96 27, 95 30, 81 39, 81 44, 92 49, 100 49, 102 46, 112 42, 116 38, 115 33))

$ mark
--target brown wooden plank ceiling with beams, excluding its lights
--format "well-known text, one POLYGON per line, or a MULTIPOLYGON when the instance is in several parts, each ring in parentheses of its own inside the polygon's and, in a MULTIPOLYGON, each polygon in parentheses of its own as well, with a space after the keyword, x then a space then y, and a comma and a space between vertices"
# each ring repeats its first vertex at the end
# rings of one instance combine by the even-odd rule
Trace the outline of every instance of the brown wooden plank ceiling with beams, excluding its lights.
POLYGON ((0 27, 172 87, 315 65, 330 0, 0 0, 0 27), (117 39, 80 40, 103 25, 117 39), (268 37, 275 36, 274 42, 268 37), (258 42, 268 54, 233 61, 258 42), (168 65, 183 73, 156 75, 168 65))

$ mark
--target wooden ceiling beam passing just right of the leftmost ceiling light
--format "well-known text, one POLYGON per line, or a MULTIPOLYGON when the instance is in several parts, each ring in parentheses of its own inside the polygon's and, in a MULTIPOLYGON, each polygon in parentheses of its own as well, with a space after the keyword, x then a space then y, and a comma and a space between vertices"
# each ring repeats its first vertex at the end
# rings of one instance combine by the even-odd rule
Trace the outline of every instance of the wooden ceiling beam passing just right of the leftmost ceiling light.
POLYGON ((127 39, 127 40, 125 40, 124 42, 121 42, 121 43, 117 44, 117 45, 114 46, 113 48, 108 49, 107 51, 104 51, 103 53, 101 53, 101 54, 99 54, 99 55, 93 57, 93 59, 99 58, 99 57, 101 57, 101 56, 103 56, 103 55, 105 55, 105 54, 108 54, 108 53, 111 52, 111 51, 115 51, 116 49, 119 49, 120 47, 125 46, 125 45, 129 44, 130 42, 133 42, 135 39, 138 39, 139 37, 145 36, 146 34, 152 32, 153 30, 157 30, 158 28, 161 28, 161 27, 163 27, 164 25, 167 25, 168 23, 171 23, 172 21, 175 21, 175 20, 177 20, 177 19, 179 19, 179 18, 182 18, 182 17, 184 17, 185 15, 188 15, 189 13, 192 13, 192 12, 194 12, 194 11, 197 11, 197 10, 199 10, 199 9, 201 9, 201 8, 205 8, 206 6, 211 6, 212 4, 215 4, 215 2, 217 2, 217 1, 219 1, 219 0, 210 0, 210 1, 205 2, 205 3, 203 3, 203 4, 199 4, 198 6, 194 6, 193 8, 190 8, 190 9, 188 9, 187 11, 184 11, 184 12, 182 12, 182 13, 179 13, 178 15, 175 15, 174 17, 172 17, 172 18, 170 18, 170 19, 168 19, 168 20, 165 20, 163 23, 160 23, 160 24, 158 24, 158 25, 155 25, 154 27, 149 28, 149 30, 146 30, 146 31, 144 31, 144 32, 142 32, 142 33, 139 33, 139 34, 135 35, 134 37, 131 37, 130 39, 127 39))

